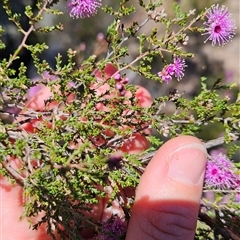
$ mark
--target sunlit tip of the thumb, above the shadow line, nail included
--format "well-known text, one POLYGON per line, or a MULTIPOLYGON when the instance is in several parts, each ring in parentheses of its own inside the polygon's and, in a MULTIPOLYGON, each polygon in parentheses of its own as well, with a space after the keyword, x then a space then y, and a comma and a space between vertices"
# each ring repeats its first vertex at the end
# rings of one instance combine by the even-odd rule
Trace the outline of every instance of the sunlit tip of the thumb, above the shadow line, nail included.
POLYGON ((136 198, 148 195, 151 199, 192 199, 198 202, 206 159, 206 149, 196 137, 179 136, 167 141, 148 164, 136 198))

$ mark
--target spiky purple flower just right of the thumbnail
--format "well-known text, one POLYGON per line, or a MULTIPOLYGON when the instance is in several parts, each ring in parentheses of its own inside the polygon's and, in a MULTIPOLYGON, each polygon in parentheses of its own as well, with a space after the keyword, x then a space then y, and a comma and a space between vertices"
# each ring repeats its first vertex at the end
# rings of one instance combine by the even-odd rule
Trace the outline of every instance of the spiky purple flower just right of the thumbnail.
POLYGON ((236 189, 239 176, 231 160, 223 153, 211 155, 206 165, 205 185, 218 189, 236 189))

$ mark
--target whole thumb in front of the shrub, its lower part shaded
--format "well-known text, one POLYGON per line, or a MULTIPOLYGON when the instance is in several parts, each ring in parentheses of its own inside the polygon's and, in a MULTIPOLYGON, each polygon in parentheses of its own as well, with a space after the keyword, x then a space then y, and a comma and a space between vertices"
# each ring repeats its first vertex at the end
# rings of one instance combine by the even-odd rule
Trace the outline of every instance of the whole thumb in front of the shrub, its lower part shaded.
POLYGON ((192 240, 206 160, 206 149, 195 137, 166 142, 141 177, 126 239, 192 240))

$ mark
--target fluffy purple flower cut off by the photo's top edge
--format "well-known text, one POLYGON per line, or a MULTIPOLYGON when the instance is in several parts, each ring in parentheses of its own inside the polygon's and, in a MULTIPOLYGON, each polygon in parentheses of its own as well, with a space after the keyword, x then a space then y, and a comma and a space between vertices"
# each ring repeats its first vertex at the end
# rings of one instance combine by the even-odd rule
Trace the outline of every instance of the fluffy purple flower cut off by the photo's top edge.
POLYGON ((68 2, 69 14, 73 18, 91 17, 101 6, 101 0, 70 0, 68 2))

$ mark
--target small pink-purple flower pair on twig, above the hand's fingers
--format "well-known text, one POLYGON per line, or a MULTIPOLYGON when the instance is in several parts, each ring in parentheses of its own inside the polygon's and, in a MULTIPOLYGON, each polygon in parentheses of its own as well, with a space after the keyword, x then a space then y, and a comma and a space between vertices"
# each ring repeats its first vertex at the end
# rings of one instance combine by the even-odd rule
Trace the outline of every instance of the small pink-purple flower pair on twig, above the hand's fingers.
POLYGON ((187 67, 187 65, 183 58, 174 57, 173 63, 167 65, 161 72, 158 72, 158 76, 166 83, 169 83, 173 76, 179 81, 184 76, 185 67, 187 67))

